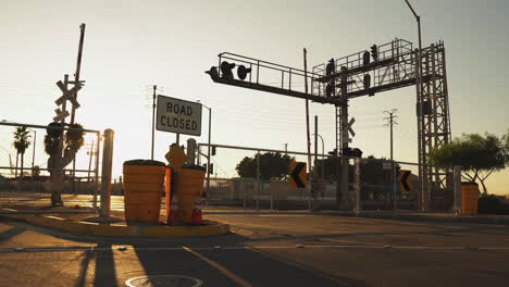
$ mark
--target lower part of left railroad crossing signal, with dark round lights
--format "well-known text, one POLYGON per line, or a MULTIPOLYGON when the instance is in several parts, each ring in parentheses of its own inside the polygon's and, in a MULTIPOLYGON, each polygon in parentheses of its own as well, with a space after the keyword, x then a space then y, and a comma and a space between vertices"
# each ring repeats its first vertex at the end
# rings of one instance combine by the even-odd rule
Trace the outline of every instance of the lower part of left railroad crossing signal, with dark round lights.
POLYGON ((69 125, 70 129, 65 134, 63 133, 63 126, 64 124, 61 123, 49 124, 45 136, 45 151, 50 155, 48 169, 52 185, 51 203, 53 205, 63 204, 61 196, 64 180, 63 169, 74 160, 76 152, 84 144, 82 125, 69 125))

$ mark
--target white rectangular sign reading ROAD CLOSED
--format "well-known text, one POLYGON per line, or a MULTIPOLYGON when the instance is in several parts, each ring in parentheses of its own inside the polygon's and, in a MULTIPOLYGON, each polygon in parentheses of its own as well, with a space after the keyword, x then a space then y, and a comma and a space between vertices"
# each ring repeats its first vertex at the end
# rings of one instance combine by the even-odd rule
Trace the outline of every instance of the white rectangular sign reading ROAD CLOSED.
POLYGON ((201 135, 201 104, 158 95, 156 129, 201 135))

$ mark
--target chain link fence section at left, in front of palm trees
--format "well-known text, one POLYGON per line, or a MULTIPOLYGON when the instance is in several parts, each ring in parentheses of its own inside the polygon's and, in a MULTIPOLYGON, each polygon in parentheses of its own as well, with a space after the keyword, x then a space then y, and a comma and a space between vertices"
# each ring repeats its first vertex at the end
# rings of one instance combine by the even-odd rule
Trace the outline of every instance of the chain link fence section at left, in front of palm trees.
POLYGON ((95 209, 100 140, 98 130, 1 122, 0 212, 50 212, 54 190, 60 191, 65 207, 95 209), (50 138, 52 133, 61 137, 50 138), (48 151, 59 145, 60 157, 50 159, 48 151), (59 163, 48 166, 57 158, 59 163), (61 175, 61 180, 54 184, 52 174, 61 175))

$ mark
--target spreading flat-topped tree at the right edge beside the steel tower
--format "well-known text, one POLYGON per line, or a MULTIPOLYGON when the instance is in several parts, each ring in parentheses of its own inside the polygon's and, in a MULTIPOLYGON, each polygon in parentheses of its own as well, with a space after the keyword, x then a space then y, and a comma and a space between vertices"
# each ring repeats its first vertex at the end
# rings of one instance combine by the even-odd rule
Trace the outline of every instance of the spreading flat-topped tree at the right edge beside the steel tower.
POLYGON ((461 176, 472 183, 480 182, 483 194, 487 194, 485 180, 506 167, 509 162, 509 133, 501 138, 486 133, 463 134, 450 144, 444 145, 430 152, 430 164, 454 166, 460 165, 461 176))

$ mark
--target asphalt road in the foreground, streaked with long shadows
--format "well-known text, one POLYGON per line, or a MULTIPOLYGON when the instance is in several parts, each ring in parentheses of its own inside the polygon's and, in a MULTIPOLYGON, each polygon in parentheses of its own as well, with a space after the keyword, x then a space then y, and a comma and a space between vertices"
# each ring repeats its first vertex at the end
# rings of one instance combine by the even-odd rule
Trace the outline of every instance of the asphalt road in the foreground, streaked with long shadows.
POLYGON ((0 220, 0 286, 506 286, 509 227, 310 214, 211 214, 232 235, 107 239, 0 220), (126 249, 124 249, 126 248, 126 249), (16 251, 17 250, 17 251, 16 251), (153 277, 144 286, 163 285, 153 277), (195 280, 198 282, 198 280, 195 280))

